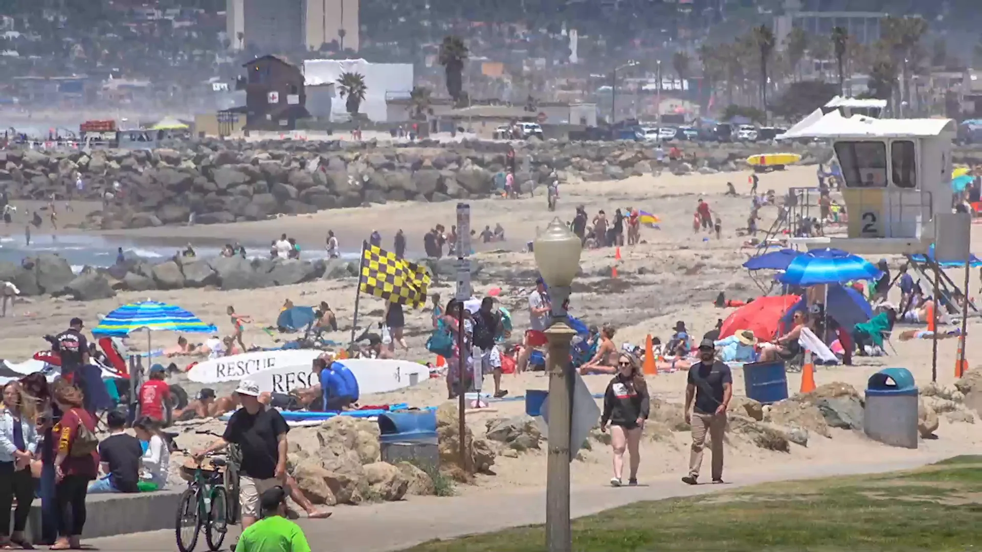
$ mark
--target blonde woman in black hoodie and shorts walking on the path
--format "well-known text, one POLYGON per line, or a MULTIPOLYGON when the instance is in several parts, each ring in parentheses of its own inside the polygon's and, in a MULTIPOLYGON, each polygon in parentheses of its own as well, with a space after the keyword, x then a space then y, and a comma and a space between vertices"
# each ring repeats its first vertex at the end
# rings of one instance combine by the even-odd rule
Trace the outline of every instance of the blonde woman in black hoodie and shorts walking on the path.
POLYGON ((604 414, 600 416, 600 430, 607 432, 611 424, 611 445, 614 447, 614 476, 611 485, 621 486, 624 471, 624 452, 630 453, 630 477, 628 485, 637 484, 637 467, 641 463, 638 445, 641 429, 648 418, 648 385, 638 369, 637 359, 627 353, 618 358, 618 373, 607 384, 604 393, 604 414))

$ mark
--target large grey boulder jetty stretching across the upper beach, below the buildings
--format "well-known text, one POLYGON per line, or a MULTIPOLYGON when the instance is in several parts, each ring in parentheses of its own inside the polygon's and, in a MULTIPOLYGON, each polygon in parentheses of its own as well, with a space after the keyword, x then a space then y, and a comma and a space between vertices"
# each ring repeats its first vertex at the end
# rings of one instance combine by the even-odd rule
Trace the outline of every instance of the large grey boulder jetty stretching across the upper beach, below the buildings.
MULTIPOLYGON (((114 197, 89 213, 88 228, 118 230, 166 224, 262 220, 278 214, 353 207, 387 201, 447 201, 487 196, 506 165, 508 143, 464 140, 441 143, 338 141, 233 141, 200 139, 172 148, 0 152, 0 189, 14 199, 59 196, 114 197), (84 189, 76 190, 77 176, 84 189), (114 184, 119 183, 120 193, 114 184)), ((793 149, 802 162, 830 155, 817 144, 678 144, 685 161, 676 174, 745 169, 754 153, 793 149), (694 155, 694 157, 693 157, 694 155)), ((544 183, 552 169, 561 178, 620 180, 651 173, 651 144, 634 141, 532 140, 517 147, 517 181, 523 192, 544 183)))

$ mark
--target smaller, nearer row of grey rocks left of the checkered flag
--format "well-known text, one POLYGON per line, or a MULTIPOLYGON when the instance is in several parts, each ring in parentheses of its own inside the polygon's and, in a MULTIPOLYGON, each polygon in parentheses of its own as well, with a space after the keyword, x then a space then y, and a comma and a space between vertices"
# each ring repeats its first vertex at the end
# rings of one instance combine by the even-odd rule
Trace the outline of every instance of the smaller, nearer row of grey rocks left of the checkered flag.
MULTIPOLYGON (((457 259, 425 258, 434 279, 456 275, 457 259)), ((471 259, 471 276, 481 274, 483 264, 471 259)), ((317 279, 355 278, 358 263, 343 259, 247 259, 233 257, 182 257, 157 260, 129 259, 108 268, 86 266, 79 274, 55 253, 27 257, 20 264, 0 262, 0 282, 13 282, 22 296, 50 295, 76 301, 108 299, 118 291, 179 290, 211 288, 251 290, 289 286, 317 279)))

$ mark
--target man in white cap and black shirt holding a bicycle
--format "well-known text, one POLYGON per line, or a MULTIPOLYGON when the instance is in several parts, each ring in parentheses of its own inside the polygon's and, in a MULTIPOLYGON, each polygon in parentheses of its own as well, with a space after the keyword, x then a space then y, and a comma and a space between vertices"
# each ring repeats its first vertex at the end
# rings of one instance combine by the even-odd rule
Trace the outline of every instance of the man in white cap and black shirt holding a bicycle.
POLYGON ((200 460, 234 443, 242 449, 239 503, 243 529, 259 519, 259 495, 276 485, 287 485, 287 420, 276 409, 259 403, 259 385, 243 380, 236 389, 243 408, 232 414, 225 434, 194 455, 200 460))

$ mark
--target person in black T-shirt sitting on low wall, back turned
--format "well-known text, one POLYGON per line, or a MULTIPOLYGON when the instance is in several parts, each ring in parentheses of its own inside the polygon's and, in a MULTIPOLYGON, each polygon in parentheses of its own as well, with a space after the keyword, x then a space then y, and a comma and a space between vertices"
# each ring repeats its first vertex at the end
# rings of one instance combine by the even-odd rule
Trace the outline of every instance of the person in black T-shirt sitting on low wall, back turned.
POLYGON ((99 460, 106 476, 92 481, 88 493, 135 493, 139 482, 143 448, 139 439, 124 432, 126 415, 112 411, 106 415, 109 436, 99 443, 99 460))

